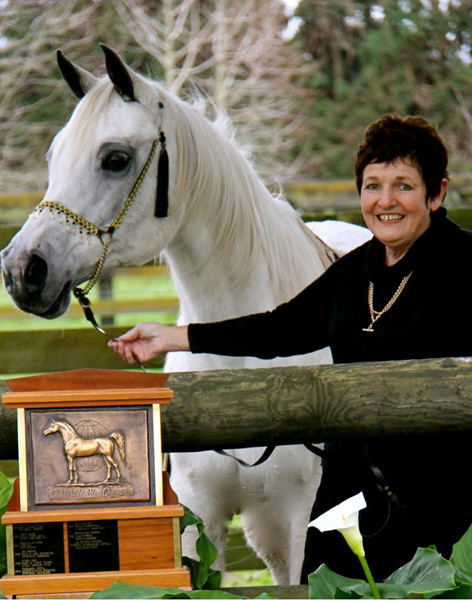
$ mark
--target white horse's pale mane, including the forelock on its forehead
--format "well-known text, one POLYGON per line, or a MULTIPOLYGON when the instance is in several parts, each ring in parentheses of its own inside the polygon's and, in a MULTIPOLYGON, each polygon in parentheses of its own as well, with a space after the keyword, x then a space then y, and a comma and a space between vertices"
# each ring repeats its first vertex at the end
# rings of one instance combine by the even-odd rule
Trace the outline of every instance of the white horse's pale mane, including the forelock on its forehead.
MULTIPOLYGON (((265 264, 276 302, 291 298, 328 265, 319 239, 283 198, 268 191, 224 114, 211 120, 205 116, 209 101, 201 96, 184 101, 160 83, 142 80, 163 98, 169 128, 165 133, 176 138, 177 156, 170 158, 176 169, 171 202, 185 204, 185 220, 214 225, 211 255, 219 259, 235 288, 257 265, 265 264), (309 261, 313 268, 307 278, 304 263, 309 261)), ((93 139, 112 95, 113 86, 105 77, 78 104, 68 124, 73 156, 93 139)))

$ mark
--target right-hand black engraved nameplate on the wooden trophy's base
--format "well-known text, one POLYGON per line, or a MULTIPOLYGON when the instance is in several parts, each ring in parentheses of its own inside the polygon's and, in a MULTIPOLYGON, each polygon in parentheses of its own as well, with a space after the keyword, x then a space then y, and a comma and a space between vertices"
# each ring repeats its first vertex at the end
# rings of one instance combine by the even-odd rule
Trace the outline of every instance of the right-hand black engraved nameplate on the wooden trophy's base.
POLYGON ((116 521, 77 521, 67 528, 71 573, 119 571, 116 521))

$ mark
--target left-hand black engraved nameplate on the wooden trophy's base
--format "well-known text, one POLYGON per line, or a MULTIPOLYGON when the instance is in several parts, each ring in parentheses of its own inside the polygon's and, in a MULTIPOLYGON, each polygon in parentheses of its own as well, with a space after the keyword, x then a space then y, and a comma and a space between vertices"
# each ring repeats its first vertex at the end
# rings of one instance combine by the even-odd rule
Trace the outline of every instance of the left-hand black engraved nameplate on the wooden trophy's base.
POLYGON ((13 525, 15 575, 64 573, 62 523, 13 525))

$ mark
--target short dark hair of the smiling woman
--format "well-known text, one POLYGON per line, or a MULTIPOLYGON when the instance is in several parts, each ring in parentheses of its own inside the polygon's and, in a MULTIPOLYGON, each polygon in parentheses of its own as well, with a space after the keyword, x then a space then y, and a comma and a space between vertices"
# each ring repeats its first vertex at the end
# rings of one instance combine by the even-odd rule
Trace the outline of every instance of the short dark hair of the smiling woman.
POLYGON ((410 162, 418 169, 426 185, 427 197, 441 191, 447 171, 448 152, 436 128, 423 117, 383 115, 369 125, 356 160, 357 191, 361 192, 364 169, 371 163, 410 162))

